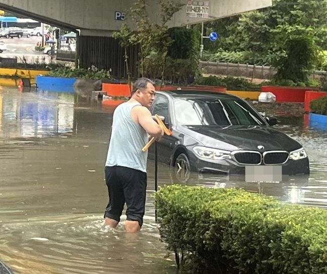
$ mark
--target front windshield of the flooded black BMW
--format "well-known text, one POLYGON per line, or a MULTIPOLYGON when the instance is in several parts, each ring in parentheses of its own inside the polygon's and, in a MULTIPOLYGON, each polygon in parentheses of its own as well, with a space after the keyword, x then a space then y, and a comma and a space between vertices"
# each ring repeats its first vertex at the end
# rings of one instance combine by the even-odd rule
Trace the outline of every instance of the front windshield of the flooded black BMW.
POLYGON ((176 98, 174 110, 182 125, 266 125, 246 102, 235 98, 176 98))

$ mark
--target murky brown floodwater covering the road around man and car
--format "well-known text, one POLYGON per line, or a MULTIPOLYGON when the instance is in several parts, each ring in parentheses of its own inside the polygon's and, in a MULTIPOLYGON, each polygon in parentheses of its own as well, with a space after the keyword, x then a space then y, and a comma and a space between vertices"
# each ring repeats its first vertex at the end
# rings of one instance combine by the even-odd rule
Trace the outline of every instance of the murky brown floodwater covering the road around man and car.
MULTIPOLYGON (((112 109, 90 96, 0 90, 0 260, 15 273, 176 273, 154 216, 154 163, 148 163, 141 233, 103 228, 104 163, 112 109)), ((290 203, 327 206, 327 131, 281 118, 277 126, 307 150, 307 180, 257 184, 191 173, 176 179, 159 164, 159 186, 172 181, 242 187, 290 203)), ((124 220, 124 217, 122 218, 124 220)))

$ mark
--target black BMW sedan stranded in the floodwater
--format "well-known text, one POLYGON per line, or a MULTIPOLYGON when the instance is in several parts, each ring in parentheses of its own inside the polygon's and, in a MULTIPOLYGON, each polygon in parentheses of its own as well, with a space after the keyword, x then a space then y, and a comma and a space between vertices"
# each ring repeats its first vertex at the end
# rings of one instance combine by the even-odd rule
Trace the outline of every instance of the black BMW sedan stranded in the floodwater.
MULTIPOLYGON (((159 162, 174 166, 176 172, 254 175, 254 180, 260 181, 309 174, 302 145, 272 127, 277 123, 275 117, 263 117, 236 96, 199 90, 161 91, 150 111, 161 116, 173 132, 157 143, 157 155, 159 162)), ((153 147, 150 159, 154 159, 153 147)))

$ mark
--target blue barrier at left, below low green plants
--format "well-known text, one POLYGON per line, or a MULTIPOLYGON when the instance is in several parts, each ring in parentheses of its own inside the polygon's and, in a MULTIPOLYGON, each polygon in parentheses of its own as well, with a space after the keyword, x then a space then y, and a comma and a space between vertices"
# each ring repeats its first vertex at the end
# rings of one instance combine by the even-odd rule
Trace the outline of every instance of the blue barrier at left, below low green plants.
POLYGON ((73 93, 76 78, 36 76, 37 87, 49 92, 73 93))

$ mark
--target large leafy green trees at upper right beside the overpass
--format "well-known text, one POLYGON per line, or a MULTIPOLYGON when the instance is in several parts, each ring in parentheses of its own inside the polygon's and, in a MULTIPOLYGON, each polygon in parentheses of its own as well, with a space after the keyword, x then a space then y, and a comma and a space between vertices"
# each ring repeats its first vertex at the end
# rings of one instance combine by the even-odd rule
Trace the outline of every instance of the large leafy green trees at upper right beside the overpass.
POLYGON ((219 39, 214 43, 205 39, 205 49, 217 57, 206 60, 227 62, 230 58, 240 63, 277 65, 281 69, 279 78, 305 82, 305 70, 325 65, 321 58, 314 59, 312 52, 306 56, 303 53, 305 47, 309 51, 312 46, 327 49, 327 1, 275 0, 269 8, 205 23, 205 33, 211 31, 216 31, 219 39), (294 34, 298 37, 291 37, 294 34), (305 42, 307 38, 310 43, 305 42), (230 55, 223 56, 222 52, 230 55), (299 71, 293 71, 296 64, 300 64, 299 71), (293 75, 285 75, 287 71, 293 75))

